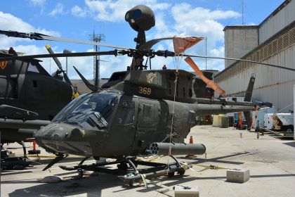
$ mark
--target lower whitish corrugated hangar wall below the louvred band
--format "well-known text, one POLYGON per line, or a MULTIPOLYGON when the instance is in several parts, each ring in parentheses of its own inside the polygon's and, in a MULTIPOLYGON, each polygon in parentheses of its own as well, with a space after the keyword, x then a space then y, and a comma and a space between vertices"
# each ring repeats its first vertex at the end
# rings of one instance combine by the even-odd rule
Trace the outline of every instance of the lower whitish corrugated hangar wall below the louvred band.
MULTIPOLYGON (((280 51, 280 53, 263 62, 295 68, 295 45, 280 51)), ((277 110, 282 110, 293 103, 295 72, 290 70, 272 68, 266 65, 253 65, 218 84, 225 89, 229 96, 244 96, 251 73, 256 74, 253 99, 273 103, 277 110)), ((292 110, 293 105, 282 112, 288 112, 289 109, 292 110)))

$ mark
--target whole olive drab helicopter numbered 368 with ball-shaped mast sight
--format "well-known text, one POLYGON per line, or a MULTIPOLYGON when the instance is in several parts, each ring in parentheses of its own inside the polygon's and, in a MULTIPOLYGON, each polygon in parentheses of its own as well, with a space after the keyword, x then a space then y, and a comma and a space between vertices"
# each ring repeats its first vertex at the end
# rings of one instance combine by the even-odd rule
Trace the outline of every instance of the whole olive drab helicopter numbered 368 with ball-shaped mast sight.
MULTIPOLYGON (((192 46, 202 38, 181 37, 176 40, 174 49, 179 43, 179 50, 154 51, 152 46, 162 40, 173 37, 145 40, 145 31, 155 26, 155 15, 147 6, 136 6, 127 11, 125 20, 133 30, 138 32, 136 49, 122 46, 99 44, 115 48, 113 51, 82 52, 82 53, 55 53, 34 56, 14 56, 0 58, 0 61, 22 60, 26 58, 46 58, 62 56, 122 56, 132 58, 132 63, 126 71, 114 72, 110 80, 101 88, 90 84, 81 72, 78 74, 91 89, 89 94, 81 95, 71 101, 56 115, 51 124, 42 127, 34 134, 39 146, 56 158, 49 163, 48 169, 69 154, 82 155, 77 166, 60 166, 64 170, 77 170, 83 176, 83 170, 93 170, 114 174, 114 170, 103 166, 117 164, 119 178, 129 184, 142 179, 175 172, 184 174, 190 165, 178 161, 173 155, 204 154, 206 147, 203 144, 185 144, 184 139, 190 129, 196 125, 199 115, 240 112, 250 118, 249 111, 254 110, 251 94, 254 88, 255 76, 251 75, 249 86, 243 102, 225 101, 223 98, 204 98, 200 93, 201 87, 208 85, 212 89, 224 94, 222 89, 206 78, 195 68, 190 57, 205 58, 205 56, 185 55, 185 47, 192 46), (192 43, 195 42, 195 43, 192 43), (148 70, 147 62, 155 56, 185 57, 185 61, 199 72, 196 77, 185 70, 148 70), (147 58, 144 64, 144 58, 147 58), (200 80, 206 82, 200 83, 200 80), (150 163, 136 160, 138 155, 169 155, 174 163, 150 163), (100 157, 114 158, 115 161, 103 161, 93 165, 83 165, 90 157, 99 160, 100 157), (138 169, 137 165, 149 166, 138 169), (128 170, 131 168, 132 171, 128 170)), ((12 36, 12 33, 7 33, 12 36)), ((32 39, 59 40, 44 34, 24 34, 18 36, 32 39)), ((65 39, 65 42, 77 42, 65 39)), ((174 41, 174 39, 173 39, 174 41)), ((79 42, 81 43, 81 42, 79 42)), ((86 44, 83 42, 83 44, 86 44)), ((209 57, 218 58, 218 57, 209 57)), ((227 59, 227 58, 225 58, 227 59)), ((233 59, 233 58, 228 58, 233 59)), ((247 61, 233 59, 237 61, 247 61)), ((251 63, 258 63, 248 61, 251 63)), ((265 64, 265 63, 261 63, 265 64)), ((270 65, 270 64, 265 64, 270 65)), ((276 66, 276 65, 270 65, 276 66)), ((280 66, 279 66, 280 67, 280 66)))

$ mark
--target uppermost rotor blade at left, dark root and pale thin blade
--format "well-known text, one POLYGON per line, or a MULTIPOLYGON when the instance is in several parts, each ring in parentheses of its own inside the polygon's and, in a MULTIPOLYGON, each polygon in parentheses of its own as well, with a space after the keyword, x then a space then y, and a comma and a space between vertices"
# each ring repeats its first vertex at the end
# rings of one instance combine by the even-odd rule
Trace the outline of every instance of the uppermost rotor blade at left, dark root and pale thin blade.
POLYGON ((112 44, 102 44, 100 42, 88 42, 88 41, 82 41, 79 39, 67 39, 62 37, 52 37, 46 34, 40 34, 37 32, 31 32, 31 33, 25 33, 25 32, 17 32, 17 31, 5 31, 0 30, 0 34, 5 34, 8 37, 21 37, 21 38, 29 38, 29 39, 35 39, 35 40, 51 40, 51 41, 57 41, 57 42, 72 42, 77 44, 89 44, 89 45, 96 45, 96 46, 105 46, 110 47, 114 49, 129 49, 124 46, 116 46, 112 44))

